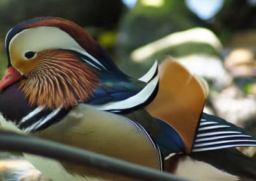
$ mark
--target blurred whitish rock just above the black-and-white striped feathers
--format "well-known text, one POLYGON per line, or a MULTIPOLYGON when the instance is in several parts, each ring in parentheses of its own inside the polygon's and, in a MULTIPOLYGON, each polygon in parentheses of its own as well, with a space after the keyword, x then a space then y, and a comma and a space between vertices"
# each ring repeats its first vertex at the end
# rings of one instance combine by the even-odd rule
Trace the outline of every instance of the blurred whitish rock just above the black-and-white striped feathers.
POLYGON ((236 86, 227 87, 220 93, 211 92, 210 98, 216 114, 223 119, 256 132, 256 97, 245 95, 236 86), (254 121, 252 121, 254 120, 254 121), (252 126, 254 124, 254 126, 252 126), (250 125, 250 126, 249 126, 250 125))

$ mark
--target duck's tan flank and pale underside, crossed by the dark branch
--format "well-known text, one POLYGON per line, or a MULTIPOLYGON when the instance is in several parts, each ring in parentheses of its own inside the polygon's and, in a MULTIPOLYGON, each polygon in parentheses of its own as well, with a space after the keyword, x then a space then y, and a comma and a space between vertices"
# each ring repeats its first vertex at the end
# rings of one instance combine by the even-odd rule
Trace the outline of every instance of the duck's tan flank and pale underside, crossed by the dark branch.
MULTIPOLYGON (((0 117, 4 129, 20 131, 9 121, 0 117)), ((152 140, 145 135, 143 127, 135 125, 127 118, 113 113, 95 110, 91 106, 79 105, 73 108, 72 112, 61 120, 58 124, 51 126, 51 130, 45 129, 32 135, 52 141, 65 142, 74 147, 81 147, 94 152, 116 157, 132 163, 142 164, 151 168, 161 170, 161 154, 152 140), (103 118, 103 120, 102 120, 103 118), (67 129, 68 128, 68 129, 67 129), (111 131, 109 131, 111 130, 111 131), (76 133, 76 134, 74 134, 76 133), (71 138, 70 135, 73 135, 71 138), (145 154, 139 155, 138 152, 145 154)), ((76 180, 78 176, 70 175, 65 170, 70 171, 78 168, 80 174, 83 172, 86 179, 94 179, 93 175, 104 175, 106 178, 129 180, 129 178, 119 177, 93 168, 80 168, 76 165, 60 164, 52 159, 31 156, 25 157, 42 173, 53 180, 76 180), (52 170, 53 173, 52 173, 52 170), (56 174, 58 173, 58 174, 56 174), (65 179, 67 178, 67 179, 65 179)), ((101 178, 99 178, 101 179, 101 178)), ((77 180, 83 180, 81 177, 77 180)))

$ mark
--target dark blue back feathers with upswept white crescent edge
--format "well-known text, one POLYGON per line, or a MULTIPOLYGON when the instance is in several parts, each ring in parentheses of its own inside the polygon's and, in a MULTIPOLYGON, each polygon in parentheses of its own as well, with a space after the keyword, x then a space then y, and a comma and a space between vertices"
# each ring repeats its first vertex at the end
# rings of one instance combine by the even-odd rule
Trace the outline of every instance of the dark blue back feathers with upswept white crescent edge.
POLYGON ((113 62, 111 62, 111 66, 108 66, 105 64, 106 62, 99 64, 88 56, 77 52, 74 54, 94 69, 100 80, 93 95, 86 100, 86 104, 110 112, 129 112, 134 108, 147 105, 156 96, 159 81, 157 62, 140 80, 125 75, 113 62), (134 104, 132 104, 133 100, 134 104))

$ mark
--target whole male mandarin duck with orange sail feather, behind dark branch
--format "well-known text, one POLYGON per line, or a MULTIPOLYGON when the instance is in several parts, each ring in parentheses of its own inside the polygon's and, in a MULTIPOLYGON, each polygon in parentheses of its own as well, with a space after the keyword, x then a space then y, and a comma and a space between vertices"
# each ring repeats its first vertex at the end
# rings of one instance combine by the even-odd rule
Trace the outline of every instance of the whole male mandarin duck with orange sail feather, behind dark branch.
MULTIPOLYGON (((226 163, 237 159, 239 168, 244 164, 256 168, 255 161, 229 148, 256 146, 256 138, 203 113, 207 85, 178 62, 163 62, 158 74, 156 62, 141 78, 131 78, 84 29, 56 17, 15 25, 5 44, 8 69, 0 82, 5 129, 157 170, 163 170, 163 158, 171 153, 184 152, 189 159, 211 164, 218 150, 226 163)), ((48 165, 26 157, 52 180, 61 180, 48 165)), ((61 171, 84 178, 125 179, 92 168, 61 165, 61 171)), ((173 165, 165 161, 166 171, 173 171, 173 165)), ((214 171, 224 170, 219 172, 227 173, 225 177, 231 175, 230 179, 256 177, 250 169, 239 173, 227 165, 211 165, 214 171)))

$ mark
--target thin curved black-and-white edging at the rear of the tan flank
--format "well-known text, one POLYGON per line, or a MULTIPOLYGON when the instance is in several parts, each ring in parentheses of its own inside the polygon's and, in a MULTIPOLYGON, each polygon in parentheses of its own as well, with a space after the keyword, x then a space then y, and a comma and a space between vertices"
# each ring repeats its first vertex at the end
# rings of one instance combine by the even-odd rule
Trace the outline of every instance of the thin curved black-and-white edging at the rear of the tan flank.
POLYGON ((138 122, 132 121, 131 119, 128 119, 127 117, 124 117, 124 119, 127 120, 127 122, 132 127, 136 127, 136 129, 138 129, 141 133, 143 133, 145 138, 147 138, 148 143, 150 143, 150 145, 152 145, 152 147, 154 147, 155 150, 158 152, 157 162, 159 164, 159 169, 162 171, 163 170, 163 157, 162 157, 161 150, 158 147, 158 145, 152 140, 151 136, 147 133, 147 131, 144 129, 144 127, 141 126, 140 124, 138 124, 138 122))

